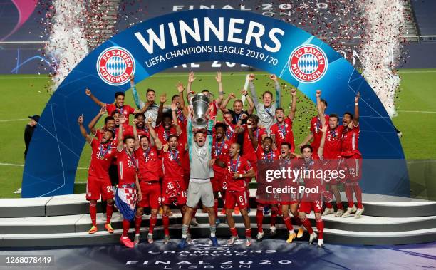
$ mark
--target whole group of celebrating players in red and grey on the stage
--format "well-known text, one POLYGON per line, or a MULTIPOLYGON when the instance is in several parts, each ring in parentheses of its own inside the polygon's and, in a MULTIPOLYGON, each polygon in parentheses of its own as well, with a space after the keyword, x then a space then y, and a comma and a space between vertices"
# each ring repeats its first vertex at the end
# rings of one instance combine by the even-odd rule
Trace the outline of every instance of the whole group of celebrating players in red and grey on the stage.
POLYGON ((260 167, 269 162, 281 162, 286 167, 301 170, 326 170, 341 168, 346 177, 336 177, 328 182, 303 175, 291 185, 304 185, 318 190, 316 193, 289 194, 286 199, 256 194, 256 240, 264 237, 264 212, 271 211, 269 233, 276 234, 277 217, 282 217, 291 243, 303 236, 303 228, 309 234, 309 244, 318 239, 323 246, 323 215, 355 217, 363 214, 362 191, 358 185, 361 178, 362 157, 358 150, 359 138, 359 93, 355 97, 353 113, 344 113, 342 125, 336 114, 326 115, 326 100, 321 99, 321 91, 316 91, 318 115, 311 120, 310 133, 295 145, 292 123, 296 112, 296 90, 291 90, 291 109, 285 115, 281 108, 281 85, 275 75, 276 100, 270 91, 262 94, 260 102, 254 86, 254 74, 250 74, 249 89, 241 91, 244 101, 235 99, 231 93, 224 98, 222 76, 215 77, 219 97, 213 98, 208 90, 201 93, 209 98, 207 128, 198 129, 192 125, 195 114, 190 100, 194 73, 188 76, 187 88, 177 83, 178 93, 172 96, 170 107, 165 106, 166 94, 160 96, 160 104, 155 103, 155 91, 148 89, 146 101, 142 101, 135 89, 133 76, 130 78, 136 109, 125 105, 123 92, 115 93, 115 103, 106 104, 98 100, 90 90, 88 95, 101 109, 88 128, 83 126, 83 115, 78 118, 81 134, 92 147, 92 157, 88 171, 86 199, 90 202, 92 227, 88 231, 98 231, 96 204, 98 199, 106 202, 105 229, 113 233, 110 220, 114 204, 123 216, 121 244, 133 247, 140 242, 140 227, 144 208, 150 208, 150 226, 147 242, 153 242, 153 230, 157 214, 162 207, 164 243, 170 240, 170 206, 180 208, 182 213, 182 239, 178 246, 184 248, 191 241, 190 225, 196 224, 195 214, 199 202, 209 215, 210 242, 218 246, 215 232, 220 223, 218 205, 221 198, 224 207, 221 214, 227 216, 231 233, 229 244, 239 239, 233 214, 241 214, 245 227, 245 244, 251 245, 251 222, 249 219, 249 183, 259 177, 260 167), (232 109, 227 108, 230 100, 232 109), (222 112, 223 121, 217 121, 222 112), (256 111, 256 113, 254 113, 256 111), (95 128, 105 114, 102 128, 95 128), (130 122, 130 115, 134 115, 130 122), (132 123, 132 125, 130 125, 132 123), (310 145, 308 144, 309 142, 310 145), (297 151, 298 150, 298 151, 297 151), (298 152, 298 153, 297 153, 298 152), (348 208, 344 212, 338 185, 343 185, 348 208), (113 186, 116 188, 113 189, 113 186), (353 193, 357 207, 353 202, 353 193), (337 211, 333 209, 333 198, 337 211), (323 207, 325 204, 325 207, 323 207), (315 213, 317 233, 306 217, 315 213), (130 223, 135 223, 135 239, 128 237, 130 223), (297 233, 293 224, 299 225, 297 233))

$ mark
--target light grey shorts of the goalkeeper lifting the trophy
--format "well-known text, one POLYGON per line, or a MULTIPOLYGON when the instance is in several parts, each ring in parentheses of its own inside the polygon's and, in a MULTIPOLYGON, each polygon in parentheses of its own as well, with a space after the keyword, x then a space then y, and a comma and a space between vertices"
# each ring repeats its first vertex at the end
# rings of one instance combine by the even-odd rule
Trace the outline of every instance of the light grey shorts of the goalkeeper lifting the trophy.
POLYGON ((190 181, 187 189, 187 207, 196 208, 200 199, 204 207, 214 207, 214 189, 210 180, 207 182, 190 181))

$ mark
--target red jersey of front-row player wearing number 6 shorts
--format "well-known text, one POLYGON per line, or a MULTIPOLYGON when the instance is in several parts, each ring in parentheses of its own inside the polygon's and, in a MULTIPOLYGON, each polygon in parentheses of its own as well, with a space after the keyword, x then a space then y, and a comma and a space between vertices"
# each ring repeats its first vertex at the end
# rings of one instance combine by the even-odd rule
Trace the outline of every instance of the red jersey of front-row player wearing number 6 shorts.
POLYGON ((251 163, 246 160, 245 157, 239 156, 237 160, 232 160, 229 158, 227 160, 227 175, 226 175, 226 186, 228 191, 244 192, 246 187, 249 185, 249 180, 247 178, 234 179, 233 175, 235 172, 238 174, 246 174, 251 170, 251 163))

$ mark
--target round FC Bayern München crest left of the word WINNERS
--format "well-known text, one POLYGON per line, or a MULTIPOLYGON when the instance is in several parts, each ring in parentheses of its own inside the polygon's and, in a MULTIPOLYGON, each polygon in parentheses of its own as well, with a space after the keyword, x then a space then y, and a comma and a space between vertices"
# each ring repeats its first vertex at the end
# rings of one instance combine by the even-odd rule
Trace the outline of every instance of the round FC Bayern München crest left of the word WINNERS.
POLYGON ((135 59, 125 48, 110 47, 98 56, 97 71, 105 83, 123 85, 135 73, 135 59))

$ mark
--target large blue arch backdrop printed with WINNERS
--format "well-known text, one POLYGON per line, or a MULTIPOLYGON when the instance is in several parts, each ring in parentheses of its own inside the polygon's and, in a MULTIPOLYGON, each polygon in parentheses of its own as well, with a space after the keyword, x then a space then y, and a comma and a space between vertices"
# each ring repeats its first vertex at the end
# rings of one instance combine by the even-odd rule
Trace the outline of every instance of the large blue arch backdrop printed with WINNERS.
MULTIPOLYGON (((303 48, 300 52, 304 54, 307 50, 303 48)), ((246 11, 199 9, 136 24, 95 48, 68 74, 43 110, 33 134, 24 167, 22 196, 73 193, 76 167, 85 142, 76 119, 83 113, 88 123, 99 110, 85 95, 85 88, 90 88, 103 102, 113 103, 114 93, 128 90, 130 84, 128 78, 111 83, 108 74, 123 76, 122 73, 134 71, 135 81, 139 82, 167 68, 200 61, 244 63, 275 73, 312 100, 315 91, 321 89, 323 98, 328 100, 327 113, 342 115, 353 111, 355 93, 360 91, 359 143, 363 157, 397 160, 395 164, 375 168, 373 172, 378 172, 378 177, 364 175, 363 191, 410 195, 407 173, 405 169, 398 170, 399 166, 405 168, 405 161, 393 124, 370 85, 339 53, 310 33, 271 17, 246 11), (150 41, 153 36, 154 41, 150 41), (244 52, 224 51, 224 46, 244 52), (304 81, 291 72, 291 53, 298 53, 301 46, 312 48, 312 53, 300 59, 304 62, 297 65, 303 71, 299 73, 313 72, 316 80, 304 81), (119 48, 111 51, 111 47, 119 48), (198 48, 202 50, 196 51, 198 48), (110 54, 103 51, 118 53, 119 57, 110 60, 105 58, 110 54), (177 52, 179 55, 173 56, 177 52), (130 57, 134 58, 132 63, 130 57), (109 73, 105 73, 105 68, 110 68, 109 73)))

